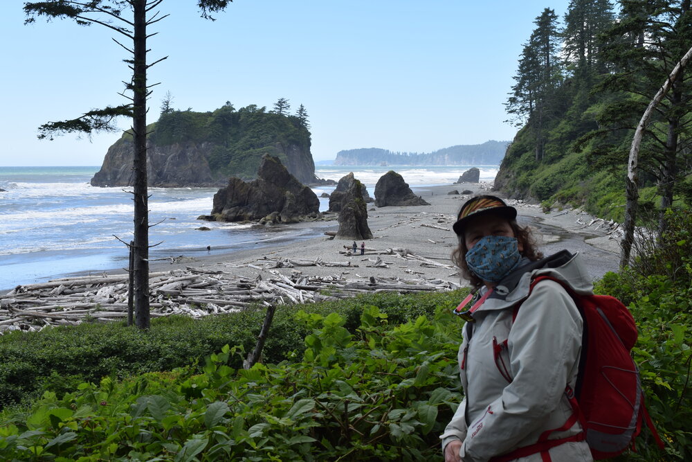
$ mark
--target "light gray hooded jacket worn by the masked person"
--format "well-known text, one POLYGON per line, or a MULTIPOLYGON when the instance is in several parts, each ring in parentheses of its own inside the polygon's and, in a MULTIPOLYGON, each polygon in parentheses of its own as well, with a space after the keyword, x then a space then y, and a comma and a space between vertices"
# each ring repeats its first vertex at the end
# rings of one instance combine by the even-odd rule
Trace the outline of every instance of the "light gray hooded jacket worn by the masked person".
MULTIPOLYGON (((560 283, 540 281, 529 295, 531 280, 544 275, 578 294, 592 293, 579 254, 561 251, 507 275, 475 311, 475 321, 464 326, 459 368, 465 398, 440 436, 443 450, 450 441, 463 442, 464 462, 484 462, 533 445, 543 432, 572 416, 565 388, 576 387, 583 321, 560 283)), ((581 425, 575 423, 549 439, 579 432, 581 425)), ((554 462, 592 461, 585 441, 558 445, 549 454, 554 462)), ((520 460, 541 458, 533 454, 520 460)))

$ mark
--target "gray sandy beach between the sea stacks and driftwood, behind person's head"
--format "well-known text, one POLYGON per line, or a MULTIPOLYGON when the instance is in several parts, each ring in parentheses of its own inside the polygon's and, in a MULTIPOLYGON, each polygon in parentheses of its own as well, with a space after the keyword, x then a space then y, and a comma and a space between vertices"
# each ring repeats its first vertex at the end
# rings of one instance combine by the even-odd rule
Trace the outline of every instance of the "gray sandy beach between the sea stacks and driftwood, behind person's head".
MULTIPOLYGON (((333 263, 347 263, 348 267, 305 266, 272 269, 286 276, 300 272, 303 276, 341 276, 348 280, 366 280, 375 278, 426 278, 439 279, 462 284, 456 270, 451 267, 450 255, 456 246, 457 238, 452 231, 452 224, 460 206, 470 195, 448 194, 453 190, 472 190, 473 193, 485 193, 489 184, 453 184, 417 188, 430 206, 387 206, 375 207, 368 204, 368 225, 374 236, 365 241, 365 255, 360 254, 361 241, 356 242, 358 252, 355 255, 346 252, 352 240, 329 239, 329 236, 276 245, 248 251, 235 251, 231 254, 211 249, 206 256, 181 258, 176 263, 152 263, 152 272, 169 269, 196 267, 218 269, 233 272, 238 276, 257 277, 267 270, 253 268, 258 260, 317 260, 333 263), (416 256, 434 260, 444 266, 422 266, 410 260, 403 260, 396 254, 378 255, 388 249, 408 249, 416 256), (386 267, 375 267, 377 258, 381 258, 386 267)), ((508 199, 508 203, 518 209, 520 224, 529 224, 536 229, 536 236, 544 254, 567 249, 584 254, 588 271, 597 279, 605 272, 617 269, 619 259, 619 239, 605 235, 605 227, 587 226, 594 217, 580 210, 551 211, 544 213, 537 204, 508 199)), ((314 224, 291 224, 289 226, 314 226, 314 224)), ((325 231, 336 231, 338 222, 324 222, 325 231)))

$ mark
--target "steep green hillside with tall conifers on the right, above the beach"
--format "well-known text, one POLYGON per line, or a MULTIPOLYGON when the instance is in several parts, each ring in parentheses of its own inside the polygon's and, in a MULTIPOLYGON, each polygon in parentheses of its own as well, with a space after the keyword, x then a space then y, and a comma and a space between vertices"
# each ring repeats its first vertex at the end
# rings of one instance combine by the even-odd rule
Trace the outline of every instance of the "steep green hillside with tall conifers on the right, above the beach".
MULTIPOLYGON (((690 0, 572 0, 545 8, 523 48, 507 112, 520 130, 495 189, 622 219, 632 135, 692 44, 690 0)), ((644 210, 692 201, 692 66, 673 82, 639 157, 644 210)))

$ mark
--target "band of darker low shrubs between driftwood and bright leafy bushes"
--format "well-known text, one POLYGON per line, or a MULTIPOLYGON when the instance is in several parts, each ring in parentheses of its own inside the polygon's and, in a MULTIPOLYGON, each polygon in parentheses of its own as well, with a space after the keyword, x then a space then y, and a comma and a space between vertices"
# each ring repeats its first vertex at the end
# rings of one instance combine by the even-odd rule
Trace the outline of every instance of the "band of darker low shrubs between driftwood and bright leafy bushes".
MULTIPOLYGON (((390 321, 432 317, 439 306, 453 308, 458 292, 440 294, 372 294, 339 302, 302 306, 302 310, 345 319, 355 332, 363 306, 376 306, 390 321)), ((271 335, 264 347, 264 361, 280 362, 302 344, 306 328, 295 325, 296 306, 277 310, 271 335)), ((201 358, 233 344, 250 351, 264 321, 264 309, 253 308, 203 319, 165 317, 152 320, 149 332, 122 324, 89 324, 12 332, 0 337, 0 407, 40 396, 43 391, 64 393, 75 382, 95 382, 116 374, 125 377, 149 371, 170 371, 197 364, 201 358)), ((239 357, 233 367, 242 366, 239 357)))

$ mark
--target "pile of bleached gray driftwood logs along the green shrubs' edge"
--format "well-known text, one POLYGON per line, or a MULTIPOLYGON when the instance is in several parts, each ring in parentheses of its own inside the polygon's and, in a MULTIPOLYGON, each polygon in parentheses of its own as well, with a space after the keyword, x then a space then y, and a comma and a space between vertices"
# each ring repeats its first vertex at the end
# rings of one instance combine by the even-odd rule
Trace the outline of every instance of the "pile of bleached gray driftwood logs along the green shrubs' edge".
MULTIPOLYGON (((403 252, 402 252, 403 253, 403 252)), ((392 251, 392 255, 395 253, 392 251)), ((399 255, 399 254, 396 254, 399 255)), ((419 259, 412 254, 401 256, 419 259)), ((334 276, 302 276, 293 271, 286 276, 278 267, 323 265, 349 267, 347 263, 322 260, 271 260, 256 264, 225 265, 266 269, 269 276, 239 277, 230 271, 187 267, 149 276, 152 317, 185 314, 203 317, 242 310, 251 305, 275 306, 283 303, 311 303, 341 299, 367 292, 421 292, 452 290, 448 281, 424 278, 374 278, 347 280, 334 276)), ((357 275, 356 275, 357 276, 357 275)), ((40 330, 45 326, 75 325, 82 321, 123 321, 128 316, 128 275, 82 276, 55 279, 48 283, 19 285, 0 295, 0 334, 9 330, 40 330)))

